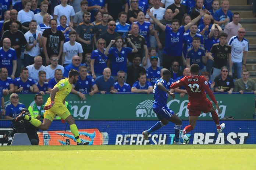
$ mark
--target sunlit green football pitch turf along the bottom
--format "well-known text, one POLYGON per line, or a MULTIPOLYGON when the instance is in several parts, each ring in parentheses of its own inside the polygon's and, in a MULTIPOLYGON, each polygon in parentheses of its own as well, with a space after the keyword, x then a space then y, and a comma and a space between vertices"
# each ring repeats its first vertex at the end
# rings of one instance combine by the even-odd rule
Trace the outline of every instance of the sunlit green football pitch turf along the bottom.
POLYGON ((243 170, 256 144, 1 146, 0 158, 3 170, 243 170))

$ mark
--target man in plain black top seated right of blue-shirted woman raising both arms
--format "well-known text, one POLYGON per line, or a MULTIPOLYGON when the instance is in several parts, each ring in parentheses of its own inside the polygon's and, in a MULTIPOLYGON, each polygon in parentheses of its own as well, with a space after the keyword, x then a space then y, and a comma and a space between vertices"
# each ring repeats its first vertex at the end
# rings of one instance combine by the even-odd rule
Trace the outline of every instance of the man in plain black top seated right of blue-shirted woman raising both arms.
POLYGON ((141 56, 138 54, 134 55, 134 59, 132 60, 132 65, 127 67, 127 84, 132 86, 135 81, 138 81, 139 73, 145 73, 146 70, 141 67, 139 64, 141 63, 141 56))

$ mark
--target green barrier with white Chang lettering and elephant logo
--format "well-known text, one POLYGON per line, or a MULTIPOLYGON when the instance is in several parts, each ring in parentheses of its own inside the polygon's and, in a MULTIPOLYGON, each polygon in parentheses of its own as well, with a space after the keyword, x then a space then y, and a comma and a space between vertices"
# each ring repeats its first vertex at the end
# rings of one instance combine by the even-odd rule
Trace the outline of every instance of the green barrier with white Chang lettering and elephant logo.
MULTIPOLYGON (((246 94, 214 94, 219 104, 221 114, 219 118, 234 117, 234 119, 253 119, 255 113, 255 95, 246 94)), ((19 94, 19 101, 28 108, 35 103, 35 94, 19 94)), ((44 95, 46 102, 49 95, 44 95)), ((209 96, 208 96, 209 98, 209 96)), ((93 120, 156 120, 156 114, 152 110, 153 94, 95 94, 86 95, 86 100, 81 100, 79 96, 70 94, 66 97, 74 113, 74 119, 93 120)), ((9 95, 4 96, 5 105, 10 103, 9 95)), ((167 106, 173 110, 181 119, 188 119, 188 95, 171 100, 168 98, 167 106)), ((211 119, 211 114, 201 114, 199 119, 211 119)))

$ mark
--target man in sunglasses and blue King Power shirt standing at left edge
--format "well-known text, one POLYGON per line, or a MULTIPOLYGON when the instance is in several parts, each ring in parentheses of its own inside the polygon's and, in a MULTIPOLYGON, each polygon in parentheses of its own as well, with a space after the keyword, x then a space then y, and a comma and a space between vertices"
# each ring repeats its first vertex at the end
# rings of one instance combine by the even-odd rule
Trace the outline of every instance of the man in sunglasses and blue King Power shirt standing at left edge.
POLYGON ((13 48, 11 48, 11 40, 3 39, 3 47, 0 48, 0 68, 6 67, 8 76, 14 79, 17 68, 17 56, 13 48))

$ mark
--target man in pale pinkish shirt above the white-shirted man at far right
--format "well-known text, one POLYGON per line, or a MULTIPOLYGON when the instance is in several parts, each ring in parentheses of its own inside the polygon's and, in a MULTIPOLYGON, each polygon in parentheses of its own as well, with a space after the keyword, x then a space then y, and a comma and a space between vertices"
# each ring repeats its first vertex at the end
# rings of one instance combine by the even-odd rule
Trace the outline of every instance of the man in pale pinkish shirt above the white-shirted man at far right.
POLYGON ((237 36, 237 32, 238 32, 239 28, 242 27, 242 25, 239 23, 241 18, 240 18, 240 14, 238 12, 235 12, 233 14, 232 19, 233 19, 233 21, 228 23, 225 26, 225 29, 223 31, 224 33, 228 34, 227 41, 229 41, 231 37, 237 36))

